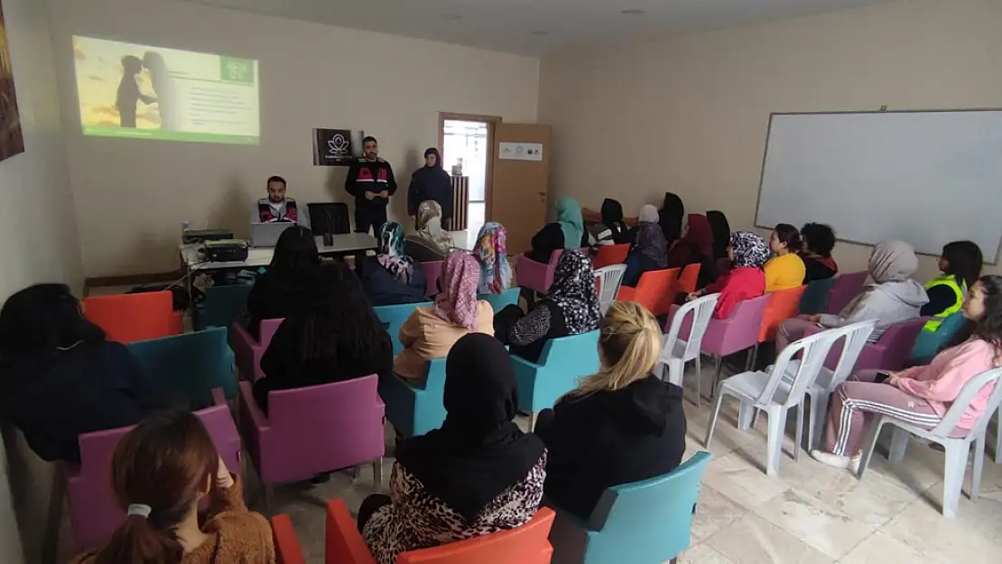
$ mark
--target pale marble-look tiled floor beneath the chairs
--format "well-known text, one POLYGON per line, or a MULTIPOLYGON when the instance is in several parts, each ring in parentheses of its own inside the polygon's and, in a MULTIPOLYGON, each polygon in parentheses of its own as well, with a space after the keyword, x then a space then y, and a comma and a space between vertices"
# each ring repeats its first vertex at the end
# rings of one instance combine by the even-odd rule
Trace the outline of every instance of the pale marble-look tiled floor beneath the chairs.
MULTIPOLYGON (((708 386, 707 380, 703 389, 708 386)), ((701 409, 686 403, 685 409, 690 456, 703 450, 709 409, 705 403, 701 409)), ((807 453, 797 462, 785 456, 780 476, 770 478, 764 472, 765 417, 747 433, 737 431, 734 421, 734 410, 724 404, 709 449, 713 460, 702 480, 692 545, 681 563, 966 564, 997 562, 1002 554, 1002 466, 986 461, 981 498, 972 503, 964 497, 957 519, 950 521, 940 515, 943 455, 925 445, 912 443, 897 467, 877 455, 862 482, 848 471, 814 462, 807 453)), ((524 418, 520 424, 526 425, 524 418)), ((387 441, 392 454, 392 434, 387 441)), ((787 453, 793 444, 788 437, 787 453)), ((391 461, 384 464, 384 485, 391 461)), ((256 488, 248 489, 254 498, 256 488)), ((342 498, 354 512, 373 491, 371 467, 354 481, 342 472, 320 486, 280 488, 273 510, 292 517, 308 561, 319 564, 325 501, 342 498)))

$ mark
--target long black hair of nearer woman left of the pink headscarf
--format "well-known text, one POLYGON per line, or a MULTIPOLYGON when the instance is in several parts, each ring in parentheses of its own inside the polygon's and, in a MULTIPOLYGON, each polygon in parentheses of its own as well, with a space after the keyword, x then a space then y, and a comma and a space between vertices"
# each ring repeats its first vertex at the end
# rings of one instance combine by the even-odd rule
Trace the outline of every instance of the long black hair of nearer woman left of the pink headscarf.
POLYGON ((324 264, 316 278, 315 302, 307 312, 300 355, 335 363, 341 357, 364 359, 380 347, 387 357, 393 345, 376 311, 366 300, 359 277, 344 262, 324 264))

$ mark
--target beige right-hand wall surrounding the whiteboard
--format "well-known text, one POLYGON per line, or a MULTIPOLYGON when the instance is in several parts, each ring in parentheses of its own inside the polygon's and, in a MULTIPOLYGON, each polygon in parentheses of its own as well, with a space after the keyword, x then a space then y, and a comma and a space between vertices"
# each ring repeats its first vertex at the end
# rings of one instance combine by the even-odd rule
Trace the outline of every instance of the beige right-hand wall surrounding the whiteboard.
MULTIPOLYGON (((771 112, 1002 107, 999 53, 1002 2, 905 0, 544 57, 551 192, 615 194, 632 215, 674 191, 746 228, 771 112)), ((836 258, 860 268, 869 251, 839 243, 836 258)), ((924 257, 920 279, 935 270, 924 257)))

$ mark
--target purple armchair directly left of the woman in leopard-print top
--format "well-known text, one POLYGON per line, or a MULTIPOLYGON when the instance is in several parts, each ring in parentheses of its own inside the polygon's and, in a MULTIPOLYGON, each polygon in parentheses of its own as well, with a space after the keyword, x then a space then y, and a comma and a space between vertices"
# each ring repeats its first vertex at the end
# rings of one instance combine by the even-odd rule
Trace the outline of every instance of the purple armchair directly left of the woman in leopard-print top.
POLYGON ((373 463, 374 481, 382 482, 385 406, 378 385, 379 377, 371 375, 273 391, 266 415, 250 384, 240 382, 240 432, 265 486, 266 505, 276 484, 366 462, 373 463))

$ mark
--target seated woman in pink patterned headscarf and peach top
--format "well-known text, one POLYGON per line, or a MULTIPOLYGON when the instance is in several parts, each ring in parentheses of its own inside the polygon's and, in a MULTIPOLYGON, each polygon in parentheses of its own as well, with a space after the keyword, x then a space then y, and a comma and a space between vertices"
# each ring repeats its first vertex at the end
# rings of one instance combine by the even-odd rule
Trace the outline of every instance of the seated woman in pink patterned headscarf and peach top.
POLYGON ((435 305, 415 308, 400 326, 400 344, 404 350, 394 359, 394 371, 404 378, 420 380, 425 363, 444 359, 449 350, 469 333, 494 335, 494 310, 484 300, 477 300, 480 266, 477 259, 463 250, 453 250, 442 263, 439 278, 442 292, 435 305))

